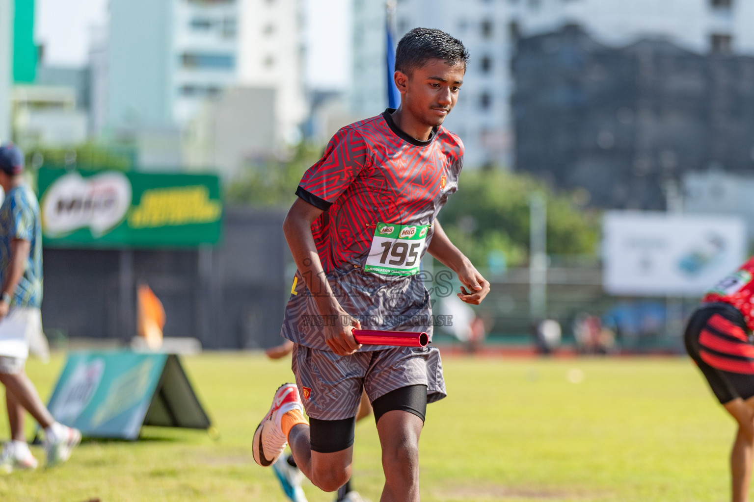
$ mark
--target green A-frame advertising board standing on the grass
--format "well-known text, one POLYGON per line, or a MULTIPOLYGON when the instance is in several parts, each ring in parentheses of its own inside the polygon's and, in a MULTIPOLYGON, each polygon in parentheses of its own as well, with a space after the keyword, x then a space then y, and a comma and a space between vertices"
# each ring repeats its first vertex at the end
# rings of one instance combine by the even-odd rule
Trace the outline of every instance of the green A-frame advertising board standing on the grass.
POLYGON ((85 437, 136 440, 143 425, 210 427, 173 354, 72 352, 48 408, 85 437))

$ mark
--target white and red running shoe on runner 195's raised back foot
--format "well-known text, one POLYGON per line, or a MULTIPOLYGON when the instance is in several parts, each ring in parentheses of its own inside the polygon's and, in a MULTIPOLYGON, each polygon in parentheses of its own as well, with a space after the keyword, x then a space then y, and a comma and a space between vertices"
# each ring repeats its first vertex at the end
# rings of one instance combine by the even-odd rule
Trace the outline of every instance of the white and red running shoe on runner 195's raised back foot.
POLYGON ((280 385, 275 391, 270 411, 259 422, 254 432, 252 443, 254 461, 262 467, 268 467, 280 458, 288 444, 288 438, 283 434, 280 420, 287 412, 293 409, 304 411, 304 405, 299 397, 299 388, 296 384, 280 385))

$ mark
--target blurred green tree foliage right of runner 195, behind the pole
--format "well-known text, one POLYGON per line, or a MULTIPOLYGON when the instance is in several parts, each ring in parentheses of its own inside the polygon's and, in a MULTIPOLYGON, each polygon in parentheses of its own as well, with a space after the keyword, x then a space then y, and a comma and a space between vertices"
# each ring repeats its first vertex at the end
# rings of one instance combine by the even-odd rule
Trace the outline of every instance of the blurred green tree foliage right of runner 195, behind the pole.
POLYGON ((547 200, 547 253, 594 254, 598 239, 595 214, 568 194, 556 194, 527 175, 497 170, 461 174, 459 190, 440 211, 440 223, 452 242, 477 266, 502 253, 509 265, 529 257, 529 196, 547 200))

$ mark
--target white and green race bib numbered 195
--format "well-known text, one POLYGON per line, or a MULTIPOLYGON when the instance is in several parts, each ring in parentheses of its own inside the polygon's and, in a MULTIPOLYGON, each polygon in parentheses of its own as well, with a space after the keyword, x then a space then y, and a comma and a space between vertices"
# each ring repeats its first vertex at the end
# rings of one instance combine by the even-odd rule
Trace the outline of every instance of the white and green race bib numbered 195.
POLYGON ((386 275, 414 275, 419 272, 429 225, 378 223, 365 272, 386 275))

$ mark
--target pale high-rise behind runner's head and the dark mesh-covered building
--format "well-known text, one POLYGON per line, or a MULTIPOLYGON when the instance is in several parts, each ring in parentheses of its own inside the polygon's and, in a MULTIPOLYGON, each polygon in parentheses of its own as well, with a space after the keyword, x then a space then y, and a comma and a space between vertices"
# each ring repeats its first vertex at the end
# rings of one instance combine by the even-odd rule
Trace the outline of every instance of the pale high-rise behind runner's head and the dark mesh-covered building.
MULTIPOLYGON (((363 117, 387 106, 385 2, 353 0, 351 105, 363 117)), ((471 53, 464 87, 446 126, 466 145, 466 165, 510 164, 510 59, 516 39, 578 24, 596 41, 626 45, 667 38, 697 53, 752 53, 749 20, 754 0, 399 0, 397 32, 416 26, 443 29, 471 53)))

